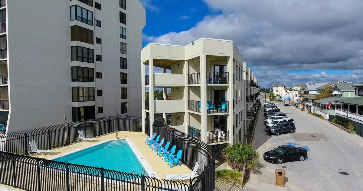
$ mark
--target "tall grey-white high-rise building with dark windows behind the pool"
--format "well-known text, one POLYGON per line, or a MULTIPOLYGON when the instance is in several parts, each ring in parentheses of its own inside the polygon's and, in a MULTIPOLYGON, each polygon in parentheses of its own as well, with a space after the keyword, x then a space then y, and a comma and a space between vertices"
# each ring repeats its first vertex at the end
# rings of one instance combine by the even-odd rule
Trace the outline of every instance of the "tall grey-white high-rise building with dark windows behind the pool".
POLYGON ((139 0, 0 0, 0 133, 140 114, 139 0))

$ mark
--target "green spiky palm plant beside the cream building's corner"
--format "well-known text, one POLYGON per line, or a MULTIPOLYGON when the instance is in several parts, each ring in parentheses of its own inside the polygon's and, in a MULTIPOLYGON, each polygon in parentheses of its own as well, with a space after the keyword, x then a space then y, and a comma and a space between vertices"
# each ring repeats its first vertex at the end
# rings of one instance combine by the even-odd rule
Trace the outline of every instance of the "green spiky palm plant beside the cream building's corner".
POLYGON ((244 165, 250 171, 256 170, 257 162, 260 160, 260 155, 256 149, 251 144, 244 142, 236 142, 233 145, 228 144, 222 149, 221 155, 228 166, 240 172, 242 172, 244 165))

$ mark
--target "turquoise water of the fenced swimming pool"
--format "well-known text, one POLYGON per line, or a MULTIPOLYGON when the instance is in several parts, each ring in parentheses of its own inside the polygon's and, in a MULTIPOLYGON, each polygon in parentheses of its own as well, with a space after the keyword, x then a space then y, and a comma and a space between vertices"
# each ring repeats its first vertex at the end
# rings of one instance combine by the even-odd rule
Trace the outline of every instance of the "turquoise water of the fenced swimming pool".
MULTIPOLYGON (((135 170, 135 174, 139 175, 143 169, 126 140, 109 141, 53 160, 125 173, 135 170)), ((145 175, 148 176, 146 172, 145 175)))

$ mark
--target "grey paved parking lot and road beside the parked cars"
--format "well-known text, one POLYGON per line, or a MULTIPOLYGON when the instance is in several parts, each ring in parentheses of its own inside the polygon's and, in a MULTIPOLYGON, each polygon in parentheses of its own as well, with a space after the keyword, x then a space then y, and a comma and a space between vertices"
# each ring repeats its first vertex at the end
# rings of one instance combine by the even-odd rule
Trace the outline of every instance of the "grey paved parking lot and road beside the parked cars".
MULTIPOLYGON (((263 108, 264 101, 261 103, 263 108)), ((250 187, 255 190, 269 185, 269 190, 362 190, 362 137, 351 135, 293 106, 283 106, 282 102, 278 103, 278 109, 294 119, 296 131, 279 136, 267 134, 264 113, 260 111, 253 146, 260 153, 261 174, 251 175, 250 187), (264 152, 286 144, 306 148, 309 158, 280 165, 263 160, 264 152), (275 169, 286 170, 287 187, 274 185, 275 169), (256 184, 263 186, 256 187, 256 184)))

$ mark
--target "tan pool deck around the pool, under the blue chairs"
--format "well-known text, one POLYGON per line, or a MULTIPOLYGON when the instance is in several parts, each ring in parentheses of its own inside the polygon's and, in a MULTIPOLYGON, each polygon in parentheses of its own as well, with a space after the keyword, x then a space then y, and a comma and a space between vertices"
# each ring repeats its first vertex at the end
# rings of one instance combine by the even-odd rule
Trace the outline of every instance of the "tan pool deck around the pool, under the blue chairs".
MULTIPOLYGON (((164 162, 162 157, 159 157, 156 152, 152 151, 150 147, 148 147, 145 144, 145 140, 147 135, 145 133, 140 132, 129 132, 129 131, 118 131, 118 136, 122 138, 129 138, 135 145, 135 147, 139 150, 139 152, 143 155, 143 158, 146 159, 148 164, 154 169, 156 174, 150 173, 147 169, 147 172, 149 176, 155 177, 155 178, 165 178, 166 174, 191 174, 192 170, 190 170, 187 166, 180 163, 181 166, 174 164, 172 168, 170 168, 170 165, 167 165, 167 162, 164 162)), ((92 147, 96 144, 99 144, 101 142, 105 142, 107 140, 114 140, 116 139, 116 132, 109 133, 106 135, 101 135, 97 138, 96 141, 92 141, 91 143, 87 144, 85 141, 83 141, 81 144, 79 143, 72 143, 67 146, 63 147, 57 147, 54 148, 56 151, 54 154, 49 154, 48 156, 42 156, 41 154, 35 155, 35 157, 39 158, 45 158, 45 159, 52 159, 56 158, 58 156, 61 156, 63 154, 72 152, 74 150, 81 150, 88 147, 92 147)), ((33 155, 32 155, 33 156, 33 155)))

